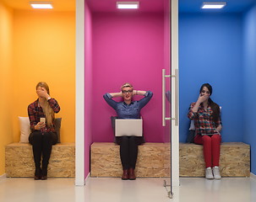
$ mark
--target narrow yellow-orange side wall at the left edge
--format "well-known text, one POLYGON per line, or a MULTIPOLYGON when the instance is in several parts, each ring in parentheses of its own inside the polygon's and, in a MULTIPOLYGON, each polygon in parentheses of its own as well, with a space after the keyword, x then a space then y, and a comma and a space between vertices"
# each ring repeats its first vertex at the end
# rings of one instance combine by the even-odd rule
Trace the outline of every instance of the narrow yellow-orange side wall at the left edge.
POLYGON ((0 176, 5 173, 4 146, 13 141, 13 10, 0 3, 0 176))

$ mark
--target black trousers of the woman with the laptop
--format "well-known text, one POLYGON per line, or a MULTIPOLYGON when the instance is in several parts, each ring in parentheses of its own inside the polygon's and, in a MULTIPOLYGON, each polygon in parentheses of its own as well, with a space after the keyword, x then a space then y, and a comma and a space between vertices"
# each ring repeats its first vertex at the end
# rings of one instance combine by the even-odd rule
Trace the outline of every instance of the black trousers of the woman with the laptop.
POLYGON ((121 137, 120 157, 123 169, 135 169, 138 157, 138 141, 135 136, 121 137))

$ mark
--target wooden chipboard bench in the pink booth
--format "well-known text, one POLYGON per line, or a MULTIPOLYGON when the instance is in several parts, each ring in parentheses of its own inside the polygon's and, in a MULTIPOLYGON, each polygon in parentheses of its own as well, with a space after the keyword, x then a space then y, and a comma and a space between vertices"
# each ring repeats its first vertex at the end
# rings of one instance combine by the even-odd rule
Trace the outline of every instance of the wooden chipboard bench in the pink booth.
MULTIPOLYGON (((90 146, 90 176, 120 177, 123 169, 119 146, 110 142, 95 142, 90 146)), ((170 146, 145 143, 139 146, 135 173, 137 177, 166 177, 170 174, 170 146)))

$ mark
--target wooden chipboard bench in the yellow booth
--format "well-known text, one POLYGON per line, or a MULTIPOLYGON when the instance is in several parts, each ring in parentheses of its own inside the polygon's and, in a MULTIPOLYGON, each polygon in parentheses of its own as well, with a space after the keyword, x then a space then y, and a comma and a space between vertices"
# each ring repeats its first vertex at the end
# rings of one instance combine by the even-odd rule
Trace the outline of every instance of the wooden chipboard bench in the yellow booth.
MULTIPOLYGON (((52 146, 48 177, 74 178, 74 143, 52 146)), ((29 143, 11 143, 5 146, 5 173, 7 177, 34 177, 35 164, 29 143)))

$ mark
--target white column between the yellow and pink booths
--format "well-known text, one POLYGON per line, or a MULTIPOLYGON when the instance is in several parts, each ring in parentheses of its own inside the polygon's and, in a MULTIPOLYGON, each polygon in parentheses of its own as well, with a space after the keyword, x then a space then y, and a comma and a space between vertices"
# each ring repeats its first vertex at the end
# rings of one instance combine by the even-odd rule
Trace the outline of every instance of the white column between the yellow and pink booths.
POLYGON ((75 185, 84 185, 84 0, 76 0, 75 185))

